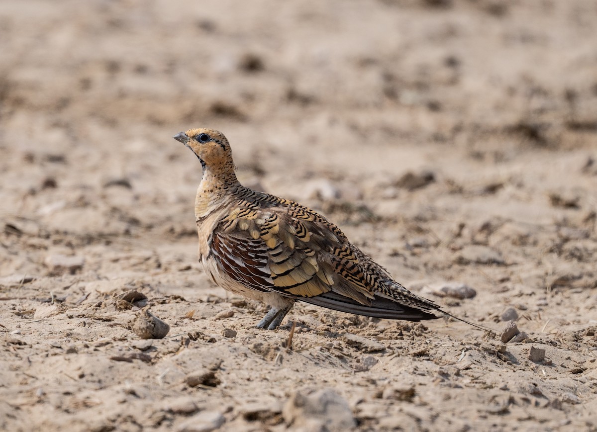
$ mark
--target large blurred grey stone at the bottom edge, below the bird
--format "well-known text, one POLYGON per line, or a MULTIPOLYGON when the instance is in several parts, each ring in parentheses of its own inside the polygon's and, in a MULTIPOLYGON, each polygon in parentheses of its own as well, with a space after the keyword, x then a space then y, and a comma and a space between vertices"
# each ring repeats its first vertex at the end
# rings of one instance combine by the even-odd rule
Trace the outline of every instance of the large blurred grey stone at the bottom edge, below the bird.
POLYGON ((356 426, 348 402, 331 388, 297 391, 282 409, 285 421, 293 428, 323 424, 330 432, 346 431, 356 426))

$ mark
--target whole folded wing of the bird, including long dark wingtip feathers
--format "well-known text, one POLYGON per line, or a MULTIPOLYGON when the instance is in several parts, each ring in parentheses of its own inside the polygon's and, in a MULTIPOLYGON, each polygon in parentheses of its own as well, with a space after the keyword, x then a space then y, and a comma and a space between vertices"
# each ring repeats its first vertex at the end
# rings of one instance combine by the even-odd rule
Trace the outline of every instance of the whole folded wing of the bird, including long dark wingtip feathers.
POLYGON ((211 234, 210 256, 231 279, 259 291, 368 316, 435 317, 417 310, 437 308, 435 304, 393 282, 330 221, 297 203, 272 203, 272 196, 264 196, 235 206, 211 234))

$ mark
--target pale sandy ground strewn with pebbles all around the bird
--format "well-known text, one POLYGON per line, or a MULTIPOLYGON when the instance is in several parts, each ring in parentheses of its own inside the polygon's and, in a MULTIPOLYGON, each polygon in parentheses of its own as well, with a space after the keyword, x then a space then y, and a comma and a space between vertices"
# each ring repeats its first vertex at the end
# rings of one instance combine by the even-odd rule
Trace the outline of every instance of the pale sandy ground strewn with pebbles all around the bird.
POLYGON ((0 429, 597 430, 594 2, 4 0, 0 53, 0 429), (306 304, 255 329, 196 262, 196 126, 528 338, 306 304))

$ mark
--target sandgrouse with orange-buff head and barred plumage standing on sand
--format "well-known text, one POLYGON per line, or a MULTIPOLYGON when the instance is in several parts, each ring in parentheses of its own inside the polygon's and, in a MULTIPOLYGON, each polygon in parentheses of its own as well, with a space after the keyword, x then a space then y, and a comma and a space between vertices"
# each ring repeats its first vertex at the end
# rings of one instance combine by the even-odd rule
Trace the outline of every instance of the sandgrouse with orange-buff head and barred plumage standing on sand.
POLYGON ((454 317, 393 280, 322 215, 242 186, 221 132, 189 129, 174 138, 203 167, 199 260, 217 285, 271 306, 257 327, 277 328, 296 300, 378 318, 454 317))

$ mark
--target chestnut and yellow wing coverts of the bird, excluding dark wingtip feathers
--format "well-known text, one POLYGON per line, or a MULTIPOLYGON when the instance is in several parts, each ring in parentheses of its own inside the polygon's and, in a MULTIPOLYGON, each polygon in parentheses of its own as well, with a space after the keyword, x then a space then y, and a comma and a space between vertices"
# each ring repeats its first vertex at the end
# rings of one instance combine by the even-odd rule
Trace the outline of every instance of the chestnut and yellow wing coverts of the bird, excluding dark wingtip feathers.
POLYGON ((235 209, 211 237, 211 256, 221 271, 248 288, 288 297, 331 291, 333 270, 322 266, 303 221, 285 212, 255 206, 235 209))

